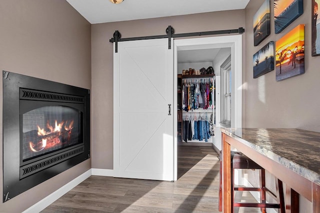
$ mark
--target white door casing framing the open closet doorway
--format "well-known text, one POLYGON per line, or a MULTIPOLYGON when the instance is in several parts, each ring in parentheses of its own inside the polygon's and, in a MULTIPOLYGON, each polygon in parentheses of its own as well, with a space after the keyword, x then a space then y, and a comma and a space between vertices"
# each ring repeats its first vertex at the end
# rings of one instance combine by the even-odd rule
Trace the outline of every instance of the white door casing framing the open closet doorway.
MULTIPOLYGON (((210 48, 224 48, 231 47, 231 64, 232 70, 234 70, 234 77, 232 76, 232 82, 234 81, 234 104, 232 105, 233 122, 231 127, 242 127, 242 35, 225 35, 225 36, 214 36, 214 37, 204 37, 204 38, 188 38, 188 39, 178 39, 174 40, 173 43, 173 75, 174 75, 174 84, 173 84, 173 111, 176 112, 176 100, 177 100, 177 85, 176 77, 177 76, 177 51, 178 50, 192 50, 192 49, 210 49, 210 48)), ((231 108, 231 109, 232 109, 231 108)), ((231 115, 232 116, 232 115, 231 115)), ((174 117, 176 115, 174 114, 174 117)), ((232 121, 231 120, 231 121, 232 121)), ((174 119, 174 126, 177 125, 176 119, 174 119)), ((175 128, 175 127, 174 127, 175 128)), ((176 130, 176 129, 174 129, 176 130)), ((177 131, 173 131, 174 137, 174 181, 177 180, 177 131)))

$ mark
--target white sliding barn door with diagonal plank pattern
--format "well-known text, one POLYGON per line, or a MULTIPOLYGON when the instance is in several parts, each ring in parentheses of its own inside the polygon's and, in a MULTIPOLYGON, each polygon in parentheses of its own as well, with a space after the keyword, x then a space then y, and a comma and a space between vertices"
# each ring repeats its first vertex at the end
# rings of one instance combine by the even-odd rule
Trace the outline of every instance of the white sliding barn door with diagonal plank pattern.
POLYGON ((173 180, 172 105, 168 39, 118 42, 113 53, 114 177, 173 180))

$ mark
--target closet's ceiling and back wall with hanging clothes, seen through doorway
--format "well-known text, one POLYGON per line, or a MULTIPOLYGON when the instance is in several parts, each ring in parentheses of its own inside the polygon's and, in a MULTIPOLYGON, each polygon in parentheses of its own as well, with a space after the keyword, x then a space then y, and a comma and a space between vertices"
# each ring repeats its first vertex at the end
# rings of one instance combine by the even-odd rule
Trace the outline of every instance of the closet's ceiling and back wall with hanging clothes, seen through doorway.
POLYGON ((177 51, 178 145, 212 146, 220 113, 219 66, 229 54, 230 48, 177 51))

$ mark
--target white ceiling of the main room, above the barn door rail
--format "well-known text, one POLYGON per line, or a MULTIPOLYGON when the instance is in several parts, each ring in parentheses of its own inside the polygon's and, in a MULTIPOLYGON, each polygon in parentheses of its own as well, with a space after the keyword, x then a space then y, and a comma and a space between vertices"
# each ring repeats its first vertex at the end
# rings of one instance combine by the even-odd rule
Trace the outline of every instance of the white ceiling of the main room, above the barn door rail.
POLYGON ((249 0, 66 0, 91 24, 244 9, 249 0))

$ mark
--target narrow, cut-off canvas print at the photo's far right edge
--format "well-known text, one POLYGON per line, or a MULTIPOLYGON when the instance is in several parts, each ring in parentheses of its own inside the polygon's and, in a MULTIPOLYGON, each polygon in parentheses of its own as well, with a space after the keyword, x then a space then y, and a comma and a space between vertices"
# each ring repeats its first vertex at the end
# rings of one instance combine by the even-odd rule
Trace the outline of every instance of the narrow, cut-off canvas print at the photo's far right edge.
POLYGON ((311 54, 312 56, 320 55, 320 0, 312 0, 311 15, 311 54))

